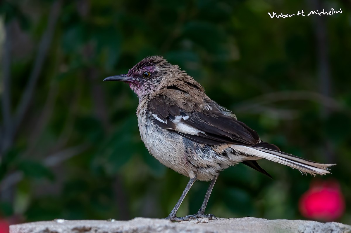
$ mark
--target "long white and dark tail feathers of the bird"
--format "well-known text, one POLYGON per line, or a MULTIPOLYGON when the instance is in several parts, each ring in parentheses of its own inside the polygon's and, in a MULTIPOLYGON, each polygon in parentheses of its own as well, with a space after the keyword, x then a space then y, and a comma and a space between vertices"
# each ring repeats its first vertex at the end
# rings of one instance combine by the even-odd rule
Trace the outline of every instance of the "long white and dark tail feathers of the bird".
MULTIPOLYGON (((250 147, 243 145, 232 145, 231 148, 238 151, 240 154, 265 158, 267 160, 281 163, 292 168, 296 168, 303 173, 309 173, 315 176, 316 174, 325 175, 330 173, 329 167, 335 164, 317 163, 311 160, 306 160, 291 154, 284 153, 278 150, 267 149, 263 147, 250 147)), ((257 159, 257 158, 256 158, 257 159)))

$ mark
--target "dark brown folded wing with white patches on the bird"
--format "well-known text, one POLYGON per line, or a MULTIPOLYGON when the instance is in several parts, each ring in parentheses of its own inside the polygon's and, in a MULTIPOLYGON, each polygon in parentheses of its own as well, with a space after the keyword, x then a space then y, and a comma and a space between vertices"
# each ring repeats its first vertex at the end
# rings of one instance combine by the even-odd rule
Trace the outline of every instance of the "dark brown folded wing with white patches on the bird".
POLYGON ((233 115, 220 111, 215 102, 207 98, 205 102, 196 103, 194 98, 178 92, 168 90, 167 95, 155 95, 148 102, 149 114, 160 127, 174 130, 192 141, 204 144, 260 143, 256 131, 233 115))

